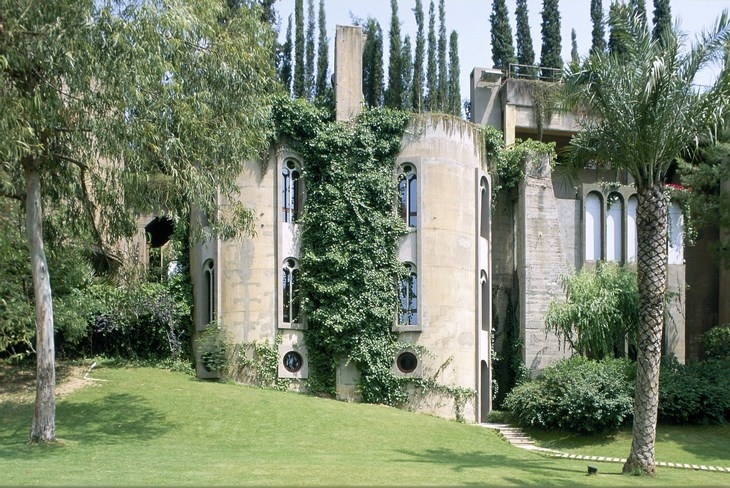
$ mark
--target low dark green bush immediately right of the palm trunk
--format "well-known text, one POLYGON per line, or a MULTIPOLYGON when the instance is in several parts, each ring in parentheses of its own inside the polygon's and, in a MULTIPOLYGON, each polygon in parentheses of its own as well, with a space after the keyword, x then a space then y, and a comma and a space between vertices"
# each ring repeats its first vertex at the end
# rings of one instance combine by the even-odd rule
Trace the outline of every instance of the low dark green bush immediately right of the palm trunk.
POLYGON ((659 421, 670 424, 717 424, 730 419, 730 361, 710 359, 681 364, 662 360, 659 421))

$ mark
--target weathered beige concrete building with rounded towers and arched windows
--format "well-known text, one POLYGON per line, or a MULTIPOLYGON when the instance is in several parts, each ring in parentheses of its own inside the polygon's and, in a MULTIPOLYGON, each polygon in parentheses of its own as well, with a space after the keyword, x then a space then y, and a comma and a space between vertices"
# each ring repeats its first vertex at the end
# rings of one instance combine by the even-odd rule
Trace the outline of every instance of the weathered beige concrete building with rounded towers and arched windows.
MULTIPOLYGON (((335 45, 336 117, 347 121, 362 103, 360 28, 338 26, 335 45)), ((479 125, 502 130, 508 143, 539 131, 558 146, 567 144, 578 126, 571 114, 536 120, 534 100, 520 80, 481 68, 471 77, 474 124, 416 117, 393 168, 394 185, 402 185, 408 207, 409 233, 398 256, 411 269, 413 291, 406 316, 394 320, 393 330, 414 345, 395 355, 393 371, 418 376, 438 370, 440 382, 473 390, 463 416, 480 422, 493 394, 492 331, 516 326, 523 359, 534 371, 569 355, 544 329, 550 301, 563 297, 558 278, 599 260, 635 260, 636 196, 626 175, 587 168, 574 183, 556 176, 547 158, 536 157, 524 162, 519 188, 502 192, 492 208, 492 175, 479 125), (421 347, 429 357, 419 356, 421 347)), ((223 318, 233 341, 274 343, 279 337, 278 374, 299 389, 308 377, 306 323, 292 297, 300 256, 296 216, 306 197, 300 174, 306 164, 286 146, 272 148, 266 164, 247 163, 237 181, 240 201, 257 216, 256 236, 211 240, 191 252, 198 331, 223 318)), ((676 293, 664 345, 684 360, 685 265, 676 210, 669 267, 669 286, 676 293)), ((200 364, 197 371, 211 376, 200 364)), ((358 377, 354 366, 340 364, 339 398, 357 400, 358 377)), ((453 417, 456 405, 432 396, 411 407, 453 417)))

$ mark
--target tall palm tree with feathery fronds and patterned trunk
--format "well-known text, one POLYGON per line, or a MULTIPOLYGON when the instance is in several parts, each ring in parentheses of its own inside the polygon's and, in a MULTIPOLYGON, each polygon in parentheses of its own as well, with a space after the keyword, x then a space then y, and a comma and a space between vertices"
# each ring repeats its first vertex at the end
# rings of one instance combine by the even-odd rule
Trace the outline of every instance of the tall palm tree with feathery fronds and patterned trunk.
POLYGON ((593 160, 627 171, 637 191, 639 330, 631 453, 624 473, 656 472, 654 442, 667 281, 667 201, 663 178, 672 161, 722 119, 730 99, 726 65, 711 87, 693 85, 730 42, 727 11, 689 49, 676 31, 653 40, 630 9, 617 19, 630 35, 620 55, 595 52, 565 71, 568 108, 585 114, 567 161, 593 160))

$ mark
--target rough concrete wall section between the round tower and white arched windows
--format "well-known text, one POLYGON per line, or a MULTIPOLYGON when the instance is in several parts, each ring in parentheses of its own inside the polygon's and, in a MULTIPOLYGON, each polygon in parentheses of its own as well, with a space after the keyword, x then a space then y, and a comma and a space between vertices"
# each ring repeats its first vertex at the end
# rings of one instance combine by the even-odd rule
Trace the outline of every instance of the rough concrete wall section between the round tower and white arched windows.
POLYGON ((549 157, 527 158, 524 164, 516 240, 520 324, 525 364, 537 372, 570 354, 554 334, 546 334, 545 316, 550 302, 563 297, 558 278, 570 269, 565 249, 573 245, 573 236, 564 239, 560 232, 561 213, 553 194, 549 157))

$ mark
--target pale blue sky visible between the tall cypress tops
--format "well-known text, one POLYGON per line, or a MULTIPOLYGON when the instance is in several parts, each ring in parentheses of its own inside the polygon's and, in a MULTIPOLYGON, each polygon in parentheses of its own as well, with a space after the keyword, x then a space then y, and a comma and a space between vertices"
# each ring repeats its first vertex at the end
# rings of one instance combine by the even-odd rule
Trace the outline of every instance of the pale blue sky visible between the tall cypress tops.
MULTIPOLYGON (((430 0, 422 0, 425 29, 428 30, 428 6, 430 0)), ((603 0, 604 14, 608 15, 608 7, 612 0, 603 0)), ((512 35, 516 32, 515 27, 515 3, 516 0, 507 0, 510 23, 512 24, 512 35)), ((540 23, 542 22, 543 0, 528 0, 527 9, 530 19, 532 34, 532 45, 535 50, 535 60, 539 62, 542 35, 540 23)), ((307 24, 307 4, 304 0, 305 28, 307 24)), ((398 16, 401 20, 401 36, 410 34, 411 45, 415 46, 416 21, 413 16, 415 0, 398 0, 398 16)), ((436 14, 436 33, 438 35, 438 0, 434 0, 436 14)), ((559 0, 560 27, 562 38, 563 61, 570 59, 570 33, 575 29, 578 53, 584 57, 591 47, 591 29, 593 25, 590 17, 590 0, 559 0)), ((646 0, 648 16, 653 15, 653 0, 646 0)), ((294 21, 294 0, 278 0, 275 4, 280 16, 280 38, 283 41, 286 34, 287 18, 292 15, 294 21)), ((452 30, 459 34, 459 60, 461 98, 469 98, 469 75, 473 68, 491 68, 492 52, 490 47, 490 25, 489 16, 492 13, 492 0, 445 0, 446 6, 446 31, 447 38, 452 30)), ((317 25, 317 9, 319 0, 314 0, 315 8, 315 29, 317 25)), ((681 31, 688 35, 687 42, 691 43, 695 35, 704 29, 709 28, 718 18, 723 9, 730 9, 730 0, 671 0, 672 17, 679 22, 681 31)), ((334 66, 334 57, 331 54, 334 46, 335 28, 337 25, 352 25, 352 17, 366 19, 374 17, 383 29, 383 42, 387 66, 388 53, 388 31, 390 26, 390 0, 325 0, 325 12, 327 21, 327 37, 330 46, 330 71, 334 66)), ((650 20, 651 21, 651 20, 650 20)), ((427 32, 426 32, 427 34, 427 32)), ((608 36, 608 29, 606 29, 608 36)), ((315 32, 315 43, 317 33, 315 32)), ((689 45, 689 44, 688 44, 689 45)), ((699 78, 699 84, 709 84, 716 76, 718 68, 704 70, 699 78)), ((387 68, 386 68, 387 77, 387 68)), ((387 80, 386 80, 387 82, 387 80)))

